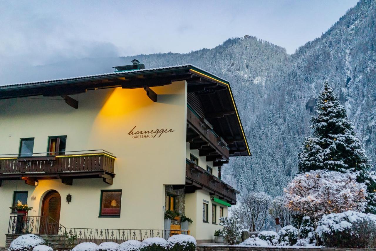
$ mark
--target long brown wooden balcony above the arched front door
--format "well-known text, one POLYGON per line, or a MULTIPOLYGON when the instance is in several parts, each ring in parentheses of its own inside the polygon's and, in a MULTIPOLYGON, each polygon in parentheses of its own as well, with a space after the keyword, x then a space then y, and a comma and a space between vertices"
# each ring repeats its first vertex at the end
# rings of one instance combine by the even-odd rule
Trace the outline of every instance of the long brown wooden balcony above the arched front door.
POLYGON ((108 152, 66 155, 10 156, 0 158, 0 185, 3 180, 25 180, 36 185, 40 179, 61 179, 72 185, 73 179, 103 178, 112 184, 115 156, 108 152))

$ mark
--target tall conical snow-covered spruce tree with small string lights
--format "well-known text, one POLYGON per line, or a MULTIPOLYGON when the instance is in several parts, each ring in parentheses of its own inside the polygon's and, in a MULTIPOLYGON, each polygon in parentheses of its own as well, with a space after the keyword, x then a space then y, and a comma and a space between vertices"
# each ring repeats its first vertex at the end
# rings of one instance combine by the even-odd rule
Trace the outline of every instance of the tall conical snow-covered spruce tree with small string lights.
POLYGON ((305 138, 299 154, 300 173, 311 170, 332 170, 356 174, 356 181, 367 185, 366 212, 376 213, 376 176, 364 145, 356 136, 354 125, 347 118, 333 89, 326 82, 315 105, 316 115, 311 118, 313 135, 305 138))

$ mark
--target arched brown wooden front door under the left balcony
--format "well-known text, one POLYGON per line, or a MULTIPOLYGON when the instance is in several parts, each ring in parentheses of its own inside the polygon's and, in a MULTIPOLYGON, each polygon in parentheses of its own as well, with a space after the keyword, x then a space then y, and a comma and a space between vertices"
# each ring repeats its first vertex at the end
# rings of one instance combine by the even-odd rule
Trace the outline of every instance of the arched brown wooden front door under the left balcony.
POLYGON ((58 234, 60 220, 60 194, 49 191, 42 200, 40 234, 58 234))

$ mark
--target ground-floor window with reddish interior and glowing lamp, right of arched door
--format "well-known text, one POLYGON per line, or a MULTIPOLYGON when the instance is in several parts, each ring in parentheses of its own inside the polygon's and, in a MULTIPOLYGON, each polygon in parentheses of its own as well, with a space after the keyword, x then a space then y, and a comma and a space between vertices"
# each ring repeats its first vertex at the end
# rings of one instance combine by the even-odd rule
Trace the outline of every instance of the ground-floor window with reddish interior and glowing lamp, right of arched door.
POLYGON ((120 217, 121 190, 101 190, 99 217, 120 217))

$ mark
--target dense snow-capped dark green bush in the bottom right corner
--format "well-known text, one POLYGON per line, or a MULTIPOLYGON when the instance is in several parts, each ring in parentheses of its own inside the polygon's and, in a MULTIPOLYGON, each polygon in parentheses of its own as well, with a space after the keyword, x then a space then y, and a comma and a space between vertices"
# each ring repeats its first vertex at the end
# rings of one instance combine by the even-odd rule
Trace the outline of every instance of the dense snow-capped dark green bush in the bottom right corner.
POLYGON ((316 232, 324 246, 376 248, 376 215, 346 211, 324 215, 316 232))

